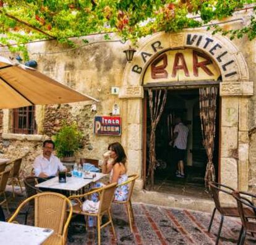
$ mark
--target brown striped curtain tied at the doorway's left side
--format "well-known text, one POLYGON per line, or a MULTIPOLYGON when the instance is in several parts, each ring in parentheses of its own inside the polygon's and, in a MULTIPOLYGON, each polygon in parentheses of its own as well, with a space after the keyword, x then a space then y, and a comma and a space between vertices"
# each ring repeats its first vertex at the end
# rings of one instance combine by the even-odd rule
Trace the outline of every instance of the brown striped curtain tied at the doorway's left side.
POLYGON ((148 89, 150 118, 151 118, 151 133, 150 133, 150 149, 149 149, 149 165, 147 173, 148 187, 151 189, 154 186, 154 172, 156 165, 155 139, 156 126, 160 120, 161 114, 166 102, 167 89, 148 89))

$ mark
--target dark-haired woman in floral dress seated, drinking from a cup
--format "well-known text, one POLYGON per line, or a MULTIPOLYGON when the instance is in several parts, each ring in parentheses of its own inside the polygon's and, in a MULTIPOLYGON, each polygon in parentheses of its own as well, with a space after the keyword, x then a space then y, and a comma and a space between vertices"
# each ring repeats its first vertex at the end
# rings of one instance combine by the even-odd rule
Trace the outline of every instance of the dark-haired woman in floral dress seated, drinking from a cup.
MULTIPOLYGON (((108 146, 109 154, 103 155, 103 165, 101 165, 102 173, 109 174, 109 184, 117 183, 120 185, 128 180, 127 169, 126 169, 126 153, 124 148, 118 142, 109 144, 108 146), (109 158, 112 161, 109 161, 109 158)), ((105 186, 104 183, 96 182, 92 188, 100 188, 105 186)), ((119 186, 114 192, 115 201, 126 201, 128 197, 129 189, 128 185, 119 186)), ((92 201, 98 201, 98 194, 92 194, 92 201)), ((93 217, 89 217, 89 226, 93 226, 93 217)))

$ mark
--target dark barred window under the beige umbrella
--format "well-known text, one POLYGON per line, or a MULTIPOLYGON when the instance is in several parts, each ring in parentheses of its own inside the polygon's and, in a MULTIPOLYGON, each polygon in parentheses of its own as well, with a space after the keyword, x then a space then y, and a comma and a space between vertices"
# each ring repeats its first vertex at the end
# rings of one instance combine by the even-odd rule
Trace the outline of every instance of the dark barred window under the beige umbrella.
POLYGON ((12 133, 26 135, 36 133, 35 106, 20 107, 13 110, 12 133))

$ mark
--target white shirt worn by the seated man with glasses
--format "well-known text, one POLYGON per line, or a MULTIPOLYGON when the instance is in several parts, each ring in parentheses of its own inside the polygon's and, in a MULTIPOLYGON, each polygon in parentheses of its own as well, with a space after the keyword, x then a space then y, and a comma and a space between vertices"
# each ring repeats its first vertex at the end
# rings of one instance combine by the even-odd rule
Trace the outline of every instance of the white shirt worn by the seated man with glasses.
POLYGON ((56 176, 58 170, 64 171, 67 168, 62 164, 58 157, 51 154, 51 157, 46 159, 43 155, 36 157, 34 161, 35 176, 40 175, 41 172, 48 176, 56 176))

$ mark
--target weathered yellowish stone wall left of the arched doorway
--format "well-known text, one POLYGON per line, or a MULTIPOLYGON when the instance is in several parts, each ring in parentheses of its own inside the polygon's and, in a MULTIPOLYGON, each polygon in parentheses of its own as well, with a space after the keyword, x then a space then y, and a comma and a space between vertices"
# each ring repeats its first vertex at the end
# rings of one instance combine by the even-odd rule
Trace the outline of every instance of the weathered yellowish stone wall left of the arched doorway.
MULTIPOLYGON (((37 70, 100 102, 96 102, 96 111, 91 110, 92 101, 36 106, 38 127, 36 136, 15 137, 9 131, 11 120, 6 114, 5 136, 4 139, 0 139, 0 158, 15 159, 28 152, 23 160, 23 170, 27 174, 32 169, 35 156, 41 154, 42 141, 56 134, 63 120, 67 123, 77 122, 83 132, 83 148, 76 152, 77 161, 80 157, 101 159, 109 143, 121 142, 121 136, 94 135, 93 120, 95 115, 110 115, 114 103, 122 108, 122 101, 119 100, 118 95, 111 94, 111 86, 121 86, 122 73, 126 65, 126 57, 122 51, 128 47, 114 36, 113 39, 117 39, 116 43, 102 42, 103 35, 87 36, 87 39, 95 44, 85 46, 81 39, 77 39, 75 40, 77 44, 82 46, 71 50, 56 41, 42 41, 28 45, 30 59, 38 62, 37 70)), ((6 57, 9 56, 15 55, 7 52, 6 57)), ((2 113, 0 112, 0 137, 1 131, 2 113)))

